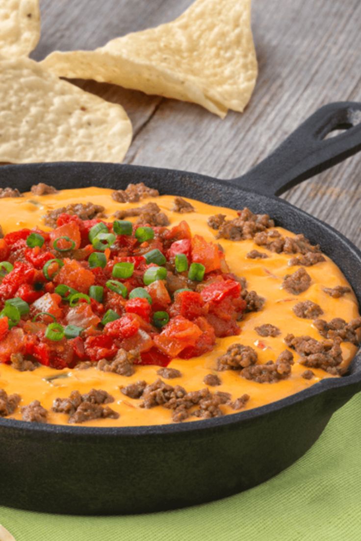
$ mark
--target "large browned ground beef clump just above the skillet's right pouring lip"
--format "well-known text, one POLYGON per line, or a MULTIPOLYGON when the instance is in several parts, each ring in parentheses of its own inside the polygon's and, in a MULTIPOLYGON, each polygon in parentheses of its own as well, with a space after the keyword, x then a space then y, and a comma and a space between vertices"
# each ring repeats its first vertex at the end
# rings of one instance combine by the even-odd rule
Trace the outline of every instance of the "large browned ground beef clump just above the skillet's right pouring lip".
POLYGON ((315 340, 309 336, 295 337, 287 334, 286 345, 294 349, 302 360, 302 365, 309 368, 322 368, 330 374, 340 374, 338 367, 342 362, 342 350, 340 348, 341 338, 334 340, 315 340))

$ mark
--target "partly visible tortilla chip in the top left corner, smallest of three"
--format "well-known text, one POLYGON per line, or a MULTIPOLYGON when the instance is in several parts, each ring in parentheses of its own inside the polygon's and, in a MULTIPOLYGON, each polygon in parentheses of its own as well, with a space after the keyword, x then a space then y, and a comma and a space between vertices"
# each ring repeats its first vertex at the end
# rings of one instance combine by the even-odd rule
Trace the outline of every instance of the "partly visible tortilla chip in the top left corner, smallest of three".
POLYGON ((27 56, 39 38, 39 0, 0 0, 1 55, 27 56))

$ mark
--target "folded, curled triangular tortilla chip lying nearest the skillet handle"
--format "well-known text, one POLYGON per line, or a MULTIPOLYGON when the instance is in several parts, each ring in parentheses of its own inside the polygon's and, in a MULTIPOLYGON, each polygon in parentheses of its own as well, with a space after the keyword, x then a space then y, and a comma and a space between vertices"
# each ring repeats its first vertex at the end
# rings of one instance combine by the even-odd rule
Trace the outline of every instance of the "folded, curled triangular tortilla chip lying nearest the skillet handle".
POLYGON ((94 51, 52 52, 62 77, 95 79, 199 103, 225 117, 243 111, 257 77, 251 0, 196 0, 178 19, 94 51))

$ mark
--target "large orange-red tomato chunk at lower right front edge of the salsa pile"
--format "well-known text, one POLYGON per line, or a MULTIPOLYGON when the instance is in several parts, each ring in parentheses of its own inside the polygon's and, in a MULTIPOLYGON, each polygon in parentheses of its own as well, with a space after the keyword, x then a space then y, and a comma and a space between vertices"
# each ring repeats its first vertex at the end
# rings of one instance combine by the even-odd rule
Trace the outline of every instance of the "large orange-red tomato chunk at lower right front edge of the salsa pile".
POLYGON ((194 346, 201 336, 201 329, 192 321, 177 315, 171 319, 153 340, 157 348, 169 357, 176 357, 182 349, 194 346))

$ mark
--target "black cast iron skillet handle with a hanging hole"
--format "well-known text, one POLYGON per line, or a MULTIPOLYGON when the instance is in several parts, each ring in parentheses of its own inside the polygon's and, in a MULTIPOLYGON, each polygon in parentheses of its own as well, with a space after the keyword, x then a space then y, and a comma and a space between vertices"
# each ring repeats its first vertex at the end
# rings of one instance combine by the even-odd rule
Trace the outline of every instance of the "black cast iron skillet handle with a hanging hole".
POLYGON ((359 150, 361 103, 330 103, 307 118, 265 160, 231 182, 264 195, 280 195, 359 150), (325 139, 338 129, 345 131, 325 139))

